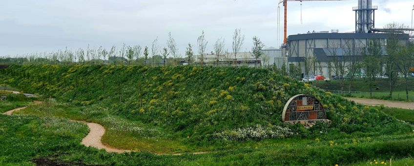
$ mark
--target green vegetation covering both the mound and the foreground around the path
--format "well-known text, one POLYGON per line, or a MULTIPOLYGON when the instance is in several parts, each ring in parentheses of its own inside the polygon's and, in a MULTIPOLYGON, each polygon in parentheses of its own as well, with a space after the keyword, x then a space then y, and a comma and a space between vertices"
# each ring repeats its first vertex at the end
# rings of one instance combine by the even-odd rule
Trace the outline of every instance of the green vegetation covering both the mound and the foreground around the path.
POLYGON ((349 165, 414 155, 412 125, 268 70, 16 65, 1 71, 0 78, 58 101, 50 109, 29 105, 15 112, 30 116, 0 116, 0 131, 7 133, 0 134, 2 165, 38 160, 69 165, 349 165), (331 124, 317 123, 308 130, 282 123, 284 104, 298 93, 320 99, 331 124), (87 128, 67 119, 101 124, 104 144, 138 151, 114 154, 84 147, 80 141, 87 128), (243 141, 215 137, 256 125, 286 127, 297 134, 243 141), (13 152, 16 146, 21 147, 13 152), (148 153, 198 151, 210 153, 148 153))

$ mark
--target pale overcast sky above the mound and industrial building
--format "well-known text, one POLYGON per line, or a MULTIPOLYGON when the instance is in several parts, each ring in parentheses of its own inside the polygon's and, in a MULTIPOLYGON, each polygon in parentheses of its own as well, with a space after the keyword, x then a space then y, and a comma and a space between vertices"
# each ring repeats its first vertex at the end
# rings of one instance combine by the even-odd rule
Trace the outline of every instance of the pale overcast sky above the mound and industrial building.
MULTIPOLYGON (((184 55, 188 43, 197 52, 197 37, 204 30, 207 51, 218 38, 231 51, 232 34, 246 36, 242 51, 250 51, 252 38, 266 45, 283 42, 283 5, 279 0, 1 0, 0 56, 51 52, 65 47, 110 49, 126 45, 166 47, 168 32, 184 55), (280 36, 278 36, 280 6, 280 36)), ((390 22, 411 26, 413 0, 373 0, 376 27, 390 22)), ((357 0, 288 2, 288 35, 308 31, 354 31, 357 0), (302 8, 302 10, 301 10, 302 8), (302 14, 301 14, 302 13, 302 14), (302 17, 302 23, 301 23, 302 17)))

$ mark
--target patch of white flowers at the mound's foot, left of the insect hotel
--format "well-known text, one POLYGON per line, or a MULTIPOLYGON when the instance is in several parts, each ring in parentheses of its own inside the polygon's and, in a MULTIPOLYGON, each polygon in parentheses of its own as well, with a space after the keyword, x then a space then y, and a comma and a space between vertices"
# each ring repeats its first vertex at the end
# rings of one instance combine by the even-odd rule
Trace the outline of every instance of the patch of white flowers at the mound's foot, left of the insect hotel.
POLYGON ((262 139, 282 139, 287 137, 296 136, 289 128, 281 126, 261 126, 256 125, 248 128, 238 128, 235 130, 226 130, 215 134, 219 139, 231 140, 231 141, 244 141, 244 140, 262 140, 262 139))

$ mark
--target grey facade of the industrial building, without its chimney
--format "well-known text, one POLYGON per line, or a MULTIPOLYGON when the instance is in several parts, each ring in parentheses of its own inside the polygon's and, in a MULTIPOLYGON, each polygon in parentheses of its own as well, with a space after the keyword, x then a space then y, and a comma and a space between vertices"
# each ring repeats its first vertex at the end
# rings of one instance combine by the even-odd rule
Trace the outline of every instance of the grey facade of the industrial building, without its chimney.
MULTIPOLYGON (((338 56, 341 61, 346 61, 350 58, 361 58, 362 51, 353 51, 355 55, 347 52, 347 49, 366 49, 367 43, 370 41, 377 41, 385 52, 387 39, 390 34, 387 33, 308 33, 290 35, 288 38, 287 52, 288 52, 288 67, 290 65, 299 65, 301 63, 302 72, 306 74, 324 75, 329 77, 330 65, 334 56, 338 56), (335 48, 335 49, 330 49, 335 48), (332 53, 331 50, 335 50, 332 53), (305 73, 305 57, 314 57, 318 63, 314 63, 310 73, 305 73), (314 70, 316 68, 320 68, 314 70)), ((401 44, 407 43, 408 34, 396 34, 401 44)))

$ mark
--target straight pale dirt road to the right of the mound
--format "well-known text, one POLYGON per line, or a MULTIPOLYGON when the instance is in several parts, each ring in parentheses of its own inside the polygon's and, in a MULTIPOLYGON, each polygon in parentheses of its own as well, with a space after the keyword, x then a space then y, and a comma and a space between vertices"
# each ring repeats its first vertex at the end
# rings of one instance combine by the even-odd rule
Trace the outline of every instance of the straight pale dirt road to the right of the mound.
POLYGON ((378 100, 378 99, 366 99, 366 98, 345 98, 355 103, 379 106, 383 104, 387 107, 393 108, 404 108, 404 109, 414 109, 414 102, 400 102, 400 101, 389 101, 389 100, 378 100))

